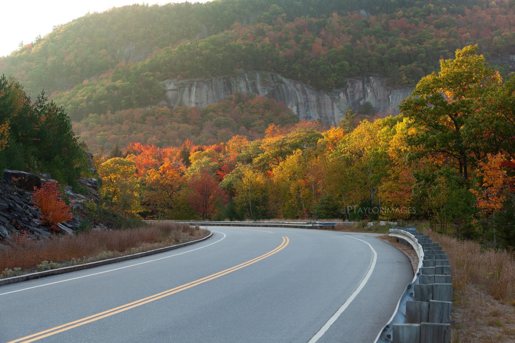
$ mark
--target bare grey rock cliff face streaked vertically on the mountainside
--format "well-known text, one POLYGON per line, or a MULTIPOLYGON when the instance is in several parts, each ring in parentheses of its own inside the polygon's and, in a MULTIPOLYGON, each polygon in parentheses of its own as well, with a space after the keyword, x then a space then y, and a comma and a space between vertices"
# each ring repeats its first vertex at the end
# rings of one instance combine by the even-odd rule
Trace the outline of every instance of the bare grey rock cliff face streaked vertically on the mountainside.
POLYGON ((337 124, 344 112, 357 110, 367 101, 377 113, 398 114, 397 106, 413 91, 413 88, 389 89, 384 78, 368 76, 349 79, 345 88, 323 92, 279 74, 256 71, 241 71, 235 77, 207 80, 166 80, 163 84, 170 106, 181 104, 203 108, 235 92, 254 93, 284 102, 299 119, 318 119, 327 126, 337 124))

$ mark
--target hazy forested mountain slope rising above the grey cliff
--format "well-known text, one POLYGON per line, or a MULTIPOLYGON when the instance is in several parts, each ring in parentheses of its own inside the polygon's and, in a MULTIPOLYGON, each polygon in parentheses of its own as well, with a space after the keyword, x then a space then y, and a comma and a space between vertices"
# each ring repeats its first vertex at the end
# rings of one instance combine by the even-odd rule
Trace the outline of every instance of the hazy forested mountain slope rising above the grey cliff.
POLYGON ((514 20, 507 0, 133 5, 57 27, 0 59, 0 73, 16 76, 29 94, 47 89, 79 121, 157 104, 165 79, 242 68, 325 90, 368 74, 392 88, 414 86, 440 58, 477 43, 506 75, 500 58, 514 51, 514 20))

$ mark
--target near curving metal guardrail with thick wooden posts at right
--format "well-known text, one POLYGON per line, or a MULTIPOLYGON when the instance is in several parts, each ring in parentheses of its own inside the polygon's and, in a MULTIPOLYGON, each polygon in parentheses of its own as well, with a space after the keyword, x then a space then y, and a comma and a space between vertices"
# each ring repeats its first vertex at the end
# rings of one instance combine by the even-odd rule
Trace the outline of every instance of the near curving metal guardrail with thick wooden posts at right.
POLYGON ((415 228, 393 227, 389 236, 413 248, 419 264, 374 343, 449 343, 454 299, 447 255, 438 243, 415 228))

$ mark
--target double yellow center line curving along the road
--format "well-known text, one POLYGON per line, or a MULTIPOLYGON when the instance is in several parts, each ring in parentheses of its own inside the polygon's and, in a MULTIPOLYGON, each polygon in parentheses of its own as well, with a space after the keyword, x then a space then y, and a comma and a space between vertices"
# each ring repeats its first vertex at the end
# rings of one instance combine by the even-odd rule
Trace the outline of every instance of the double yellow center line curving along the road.
POLYGON ((80 327, 81 325, 84 325, 84 324, 87 324, 87 323, 91 323, 93 321, 96 321, 96 320, 99 320, 99 319, 102 319, 102 318, 106 318, 106 317, 112 316, 112 315, 120 313, 120 312, 124 312, 124 311, 130 310, 130 309, 133 309, 133 308, 135 308, 137 306, 141 306, 141 305, 146 304, 148 302, 155 301, 155 300, 167 297, 167 296, 175 294, 175 293, 179 293, 181 291, 187 290, 188 288, 197 286, 197 285, 199 285, 201 283, 208 282, 210 280, 219 278, 220 276, 232 273, 235 270, 241 269, 243 267, 246 267, 248 265, 251 265, 253 263, 256 263, 258 261, 266 259, 267 257, 270 257, 273 254, 276 254, 276 252, 281 251, 289 243, 288 237, 283 237, 282 239, 283 239, 283 242, 277 248, 268 251, 266 254, 261 255, 259 257, 256 257, 255 259, 252 259, 250 261, 247 261, 247 262, 235 265, 234 267, 222 270, 221 272, 218 272, 218 273, 215 273, 215 274, 211 274, 211 275, 203 277, 201 279, 185 283, 185 284, 183 284, 181 286, 177 286, 177 287, 171 288, 171 289, 169 289, 167 291, 160 292, 160 293, 151 295, 149 297, 146 297, 146 298, 143 298, 143 299, 140 299, 140 300, 129 302, 129 303, 125 304, 125 305, 118 306, 118 307, 113 308, 111 310, 107 310, 107 311, 100 312, 100 313, 97 313, 97 314, 94 314, 94 315, 91 315, 91 316, 88 316, 88 317, 77 319, 77 320, 71 321, 69 323, 62 324, 60 326, 57 326, 57 327, 54 327, 54 328, 51 328, 51 329, 43 330, 43 331, 37 332, 35 334, 28 335, 28 336, 25 336, 25 337, 21 337, 21 338, 18 338, 18 339, 10 340, 7 343, 18 343, 18 342, 28 343, 28 342, 33 342, 33 341, 38 340, 38 339, 42 339, 42 338, 45 338, 45 337, 48 337, 48 336, 52 336, 52 335, 58 334, 58 333, 63 332, 63 331, 67 331, 67 330, 70 330, 70 329, 73 329, 73 328, 76 328, 76 327, 80 327))

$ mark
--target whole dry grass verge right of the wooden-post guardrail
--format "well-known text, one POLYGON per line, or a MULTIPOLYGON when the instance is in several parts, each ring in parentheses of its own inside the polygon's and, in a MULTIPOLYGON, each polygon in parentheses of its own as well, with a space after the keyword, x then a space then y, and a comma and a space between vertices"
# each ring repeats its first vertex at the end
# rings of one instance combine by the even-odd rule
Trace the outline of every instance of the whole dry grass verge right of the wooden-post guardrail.
POLYGON ((422 231, 449 257, 456 299, 452 341, 514 342, 515 257, 507 251, 485 250, 476 242, 422 231))

